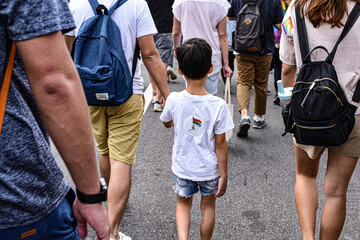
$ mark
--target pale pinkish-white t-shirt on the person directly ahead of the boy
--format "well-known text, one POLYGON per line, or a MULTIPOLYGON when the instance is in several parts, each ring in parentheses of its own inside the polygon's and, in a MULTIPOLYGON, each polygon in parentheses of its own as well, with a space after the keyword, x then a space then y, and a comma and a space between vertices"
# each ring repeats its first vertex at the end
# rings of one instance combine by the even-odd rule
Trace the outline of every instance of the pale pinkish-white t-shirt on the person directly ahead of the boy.
POLYGON ((214 70, 209 76, 222 68, 217 26, 227 16, 229 8, 226 0, 175 0, 173 5, 174 16, 181 23, 183 41, 202 38, 210 44, 214 70))

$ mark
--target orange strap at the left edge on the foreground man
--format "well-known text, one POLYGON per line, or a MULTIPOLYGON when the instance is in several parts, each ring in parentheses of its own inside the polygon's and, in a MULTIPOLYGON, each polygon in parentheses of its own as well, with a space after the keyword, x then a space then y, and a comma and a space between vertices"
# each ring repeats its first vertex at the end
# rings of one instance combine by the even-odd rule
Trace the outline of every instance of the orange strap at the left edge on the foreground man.
POLYGON ((11 46, 9 62, 6 67, 4 80, 3 80, 1 90, 0 90, 0 134, 1 134, 1 127, 2 127, 2 124, 4 121, 6 101, 7 101, 7 96, 9 93, 10 79, 11 79, 12 69, 13 69, 13 65, 14 65, 15 50, 16 50, 15 43, 13 43, 11 46))

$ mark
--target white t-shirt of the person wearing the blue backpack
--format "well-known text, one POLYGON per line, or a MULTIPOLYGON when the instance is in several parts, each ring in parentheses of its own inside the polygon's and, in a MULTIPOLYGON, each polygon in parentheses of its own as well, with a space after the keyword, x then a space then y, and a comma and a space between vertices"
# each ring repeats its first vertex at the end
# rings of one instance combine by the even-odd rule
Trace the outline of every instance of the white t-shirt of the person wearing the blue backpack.
MULTIPOLYGON (((99 4, 105 5, 108 9, 110 9, 116 1, 117 0, 98 0, 99 4)), ((75 20, 76 29, 66 35, 76 36, 82 22, 94 16, 94 11, 88 0, 72 0, 69 3, 69 7, 75 20)), ((155 23, 151 17, 147 2, 144 0, 128 0, 114 11, 112 18, 120 28, 124 53, 131 71, 136 38, 157 33, 155 23)), ((138 61, 134 75, 134 94, 143 93, 144 80, 141 77, 140 64, 140 61, 138 61)))

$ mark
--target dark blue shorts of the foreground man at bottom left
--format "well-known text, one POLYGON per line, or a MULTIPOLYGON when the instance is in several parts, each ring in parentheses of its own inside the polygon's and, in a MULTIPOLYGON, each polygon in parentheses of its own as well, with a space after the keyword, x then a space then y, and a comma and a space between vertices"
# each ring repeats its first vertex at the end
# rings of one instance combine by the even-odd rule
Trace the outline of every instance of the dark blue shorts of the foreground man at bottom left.
POLYGON ((77 224, 69 202, 64 198, 46 218, 23 227, 0 230, 0 240, 79 240, 77 224))

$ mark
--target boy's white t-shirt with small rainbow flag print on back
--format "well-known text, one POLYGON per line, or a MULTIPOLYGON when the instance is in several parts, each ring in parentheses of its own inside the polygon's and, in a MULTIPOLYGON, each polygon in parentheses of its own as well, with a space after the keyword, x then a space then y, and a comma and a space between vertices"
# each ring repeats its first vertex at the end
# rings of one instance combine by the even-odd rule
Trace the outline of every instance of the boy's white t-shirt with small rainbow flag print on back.
POLYGON ((183 179, 209 181, 220 176, 215 153, 215 134, 234 128, 223 99, 211 94, 172 92, 160 116, 174 123, 172 171, 183 179))

